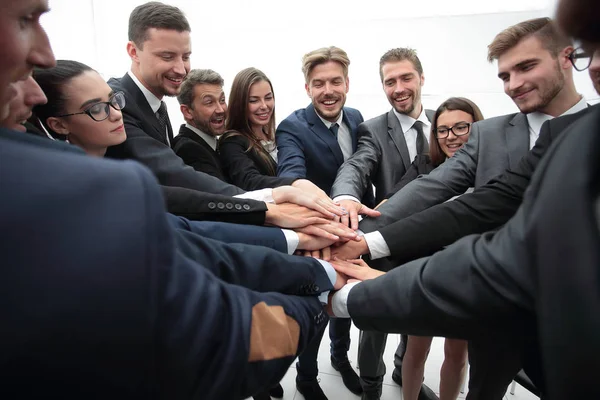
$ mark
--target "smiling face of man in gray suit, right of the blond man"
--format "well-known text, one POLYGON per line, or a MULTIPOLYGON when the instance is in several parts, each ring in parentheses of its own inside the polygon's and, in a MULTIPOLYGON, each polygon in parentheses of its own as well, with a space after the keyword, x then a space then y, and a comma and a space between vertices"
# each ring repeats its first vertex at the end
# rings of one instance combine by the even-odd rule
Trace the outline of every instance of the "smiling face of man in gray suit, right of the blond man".
POLYGON ((418 118, 421 113, 421 87, 425 77, 409 60, 386 62, 381 68, 383 91, 400 114, 418 118))

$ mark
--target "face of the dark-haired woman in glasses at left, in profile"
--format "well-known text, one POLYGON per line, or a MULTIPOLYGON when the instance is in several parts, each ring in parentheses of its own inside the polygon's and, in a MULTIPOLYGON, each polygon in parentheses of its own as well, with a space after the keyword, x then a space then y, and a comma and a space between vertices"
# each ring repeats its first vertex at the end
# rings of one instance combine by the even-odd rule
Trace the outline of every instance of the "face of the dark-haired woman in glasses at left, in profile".
MULTIPOLYGON (((63 93, 66 99, 65 114, 82 112, 95 104, 108 102, 114 94, 96 71, 86 71, 73 78, 65 85, 63 93)), ((100 156, 104 155, 107 147, 123 143, 126 135, 121 111, 112 106, 108 109, 108 118, 103 121, 95 121, 88 114, 61 117, 69 141, 83 148, 86 153, 100 156)))

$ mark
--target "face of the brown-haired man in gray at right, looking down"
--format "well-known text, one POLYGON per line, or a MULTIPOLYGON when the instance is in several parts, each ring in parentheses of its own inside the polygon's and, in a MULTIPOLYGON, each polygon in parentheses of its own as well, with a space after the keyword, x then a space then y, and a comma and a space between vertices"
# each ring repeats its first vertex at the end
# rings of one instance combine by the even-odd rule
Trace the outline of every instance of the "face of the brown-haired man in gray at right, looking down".
POLYGON ((563 58, 553 58, 535 36, 521 40, 498 58, 504 93, 522 113, 545 112, 565 86, 563 58))

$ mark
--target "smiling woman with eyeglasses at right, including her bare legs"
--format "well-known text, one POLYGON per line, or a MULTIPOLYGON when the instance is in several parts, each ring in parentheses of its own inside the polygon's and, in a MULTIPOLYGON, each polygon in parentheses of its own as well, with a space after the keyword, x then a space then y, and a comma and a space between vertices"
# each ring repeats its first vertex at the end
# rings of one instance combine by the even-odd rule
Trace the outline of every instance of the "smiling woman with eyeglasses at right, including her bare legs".
MULTIPOLYGON (((386 197, 402 189, 419 175, 430 173, 450 158, 469 140, 471 125, 481 121, 479 107, 463 97, 451 97, 435 111, 431 121, 429 154, 415 157, 409 170, 386 197)), ((432 337, 409 336, 402 361, 402 394, 405 400, 417 400, 425 361, 429 354, 432 337)), ((444 363, 440 372, 440 400, 455 400, 465 378, 467 367, 467 342, 446 339, 444 363)))

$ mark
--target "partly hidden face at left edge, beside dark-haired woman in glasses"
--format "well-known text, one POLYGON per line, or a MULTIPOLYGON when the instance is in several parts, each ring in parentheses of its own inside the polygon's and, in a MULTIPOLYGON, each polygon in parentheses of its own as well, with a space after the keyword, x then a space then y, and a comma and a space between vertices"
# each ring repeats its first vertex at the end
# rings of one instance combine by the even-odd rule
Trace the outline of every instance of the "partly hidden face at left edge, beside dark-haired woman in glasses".
POLYGON ((9 114, 7 118, 0 120, 0 126, 25 132, 23 123, 31 116, 31 110, 38 104, 46 104, 48 99, 42 88, 30 76, 24 81, 13 84, 16 95, 9 103, 9 114))

